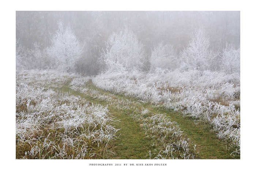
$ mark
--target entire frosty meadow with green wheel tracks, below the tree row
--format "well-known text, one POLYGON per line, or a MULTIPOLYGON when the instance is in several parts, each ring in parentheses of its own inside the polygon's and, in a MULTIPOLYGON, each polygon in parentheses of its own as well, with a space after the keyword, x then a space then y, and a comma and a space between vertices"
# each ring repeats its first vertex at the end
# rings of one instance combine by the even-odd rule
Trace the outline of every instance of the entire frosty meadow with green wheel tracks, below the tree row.
POLYGON ((239 74, 16 74, 16 159, 234 158, 240 158, 239 74))

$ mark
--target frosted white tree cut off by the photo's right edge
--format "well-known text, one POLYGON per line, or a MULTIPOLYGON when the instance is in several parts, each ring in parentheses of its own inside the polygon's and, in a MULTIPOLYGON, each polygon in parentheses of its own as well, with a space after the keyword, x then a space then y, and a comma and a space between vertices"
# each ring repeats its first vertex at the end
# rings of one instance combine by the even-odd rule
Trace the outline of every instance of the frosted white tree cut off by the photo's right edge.
POLYGON ((240 48, 226 46, 222 52, 221 70, 227 74, 240 72, 240 48))

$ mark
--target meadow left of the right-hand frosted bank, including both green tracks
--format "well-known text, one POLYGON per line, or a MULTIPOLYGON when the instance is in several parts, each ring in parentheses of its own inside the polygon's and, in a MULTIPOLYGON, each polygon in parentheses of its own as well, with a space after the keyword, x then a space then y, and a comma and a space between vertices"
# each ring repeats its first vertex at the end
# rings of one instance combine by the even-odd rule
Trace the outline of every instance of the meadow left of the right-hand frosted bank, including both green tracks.
POLYGON ((200 118, 55 72, 16 75, 16 159, 239 159, 200 118))

